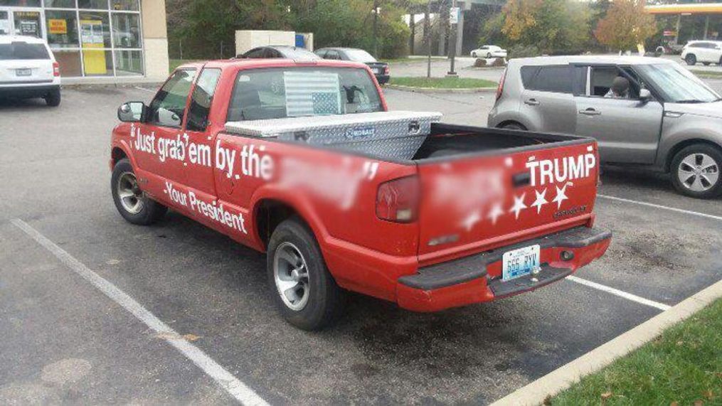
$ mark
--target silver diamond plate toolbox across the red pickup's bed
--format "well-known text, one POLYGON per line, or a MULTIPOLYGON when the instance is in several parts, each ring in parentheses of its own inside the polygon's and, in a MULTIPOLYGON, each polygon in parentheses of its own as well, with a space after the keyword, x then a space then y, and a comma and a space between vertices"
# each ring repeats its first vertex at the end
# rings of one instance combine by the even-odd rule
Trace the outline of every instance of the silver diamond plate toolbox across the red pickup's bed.
POLYGON ((330 146, 349 151, 411 159, 431 133, 440 112, 363 112, 347 115, 232 121, 229 133, 330 146))

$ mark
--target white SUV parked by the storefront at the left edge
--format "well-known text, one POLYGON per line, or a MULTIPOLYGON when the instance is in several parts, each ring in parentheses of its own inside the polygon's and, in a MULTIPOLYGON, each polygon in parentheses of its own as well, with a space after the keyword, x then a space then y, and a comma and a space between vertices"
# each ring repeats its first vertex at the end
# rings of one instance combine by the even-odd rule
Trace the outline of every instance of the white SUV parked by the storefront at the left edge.
POLYGON ((60 66, 53 52, 39 38, 0 35, 0 100, 32 97, 60 105, 60 66))

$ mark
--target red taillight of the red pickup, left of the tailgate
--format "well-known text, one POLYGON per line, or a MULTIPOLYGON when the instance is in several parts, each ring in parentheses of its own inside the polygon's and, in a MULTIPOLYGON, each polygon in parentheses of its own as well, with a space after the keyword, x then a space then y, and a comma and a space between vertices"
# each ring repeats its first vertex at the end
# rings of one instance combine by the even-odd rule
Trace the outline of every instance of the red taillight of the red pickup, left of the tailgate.
POLYGON ((376 193, 376 216, 396 223, 411 223, 419 211, 419 178, 401 177, 382 183, 376 193))

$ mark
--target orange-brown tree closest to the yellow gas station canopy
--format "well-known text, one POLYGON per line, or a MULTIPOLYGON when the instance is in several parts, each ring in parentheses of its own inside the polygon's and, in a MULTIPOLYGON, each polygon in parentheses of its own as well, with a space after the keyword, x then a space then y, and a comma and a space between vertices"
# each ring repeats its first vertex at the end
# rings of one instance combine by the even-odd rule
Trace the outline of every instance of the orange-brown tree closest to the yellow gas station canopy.
POLYGON ((630 50, 657 31, 654 16, 644 11, 644 0, 615 0, 594 34, 614 50, 630 50))

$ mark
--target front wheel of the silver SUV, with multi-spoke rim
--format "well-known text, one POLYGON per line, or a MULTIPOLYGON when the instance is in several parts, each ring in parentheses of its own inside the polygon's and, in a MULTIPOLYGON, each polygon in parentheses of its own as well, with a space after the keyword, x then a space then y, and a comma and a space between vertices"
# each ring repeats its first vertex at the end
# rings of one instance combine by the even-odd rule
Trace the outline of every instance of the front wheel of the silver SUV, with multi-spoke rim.
POLYGON ((713 198, 722 193, 722 152, 707 144, 687 146, 672 159, 671 175, 679 193, 713 198))

